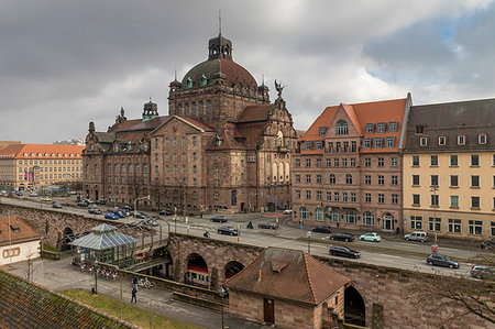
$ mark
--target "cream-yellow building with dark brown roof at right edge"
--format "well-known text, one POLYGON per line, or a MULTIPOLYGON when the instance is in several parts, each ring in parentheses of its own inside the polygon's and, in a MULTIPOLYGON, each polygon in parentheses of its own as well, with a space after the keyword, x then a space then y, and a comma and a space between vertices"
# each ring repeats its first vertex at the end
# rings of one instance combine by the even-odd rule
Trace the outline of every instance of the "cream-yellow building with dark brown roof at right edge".
POLYGON ((411 107, 404 151, 406 231, 495 235, 495 99, 411 107))

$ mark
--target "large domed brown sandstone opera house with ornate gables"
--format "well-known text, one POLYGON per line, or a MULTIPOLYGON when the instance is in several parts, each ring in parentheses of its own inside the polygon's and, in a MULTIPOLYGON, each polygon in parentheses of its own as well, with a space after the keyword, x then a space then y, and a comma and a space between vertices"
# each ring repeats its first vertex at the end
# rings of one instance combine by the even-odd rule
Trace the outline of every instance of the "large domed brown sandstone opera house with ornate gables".
POLYGON ((297 144, 282 89, 268 88, 232 59, 232 43, 209 41, 208 59, 169 85, 168 116, 144 105, 122 110, 107 132, 90 123, 84 152, 87 197, 200 211, 290 206, 290 157, 297 144), (147 202, 147 201, 144 201, 147 202))

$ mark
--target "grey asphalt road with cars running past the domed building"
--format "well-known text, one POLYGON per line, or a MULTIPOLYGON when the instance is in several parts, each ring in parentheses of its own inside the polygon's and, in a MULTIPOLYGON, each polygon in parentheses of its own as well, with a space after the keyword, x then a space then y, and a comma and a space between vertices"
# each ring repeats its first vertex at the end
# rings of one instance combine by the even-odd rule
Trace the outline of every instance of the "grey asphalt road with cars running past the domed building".
MULTIPOLYGON (((45 204, 40 201, 41 197, 21 199, 21 198, 1 198, 0 202, 22 205, 33 208, 50 208, 54 211, 72 212, 78 213, 87 217, 103 218, 106 211, 113 209, 111 206, 97 206, 102 215, 90 215, 87 208, 77 207, 65 207, 62 209, 51 208, 51 204, 45 204)), ((65 198, 56 199, 61 204, 65 204, 65 198)), ((220 226, 231 226, 233 228, 239 228, 241 231, 241 243, 254 244, 260 246, 280 246, 289 249, 299 249, 308 251, 308 241, 306 239, 307 231, 311 228, 300 229, 299 227, 293 224, 288 221, 289 216, 284 216, 283 213, 234 213, 228 215, 229 221, 227 223, 211 222, 209 219, 217 216, 217 213, 206 215, 202 219, 199 217, 190 217, 187 220, 185 217, 174 217, 174 216, 157 216, 157 213, 147 213, 150 217, 155 217, 158 223, 163 227, 164 232, 166 232, 168 226, 172 231, 175 227, 177 232, 189 233, 194 235, 202 235, 206 230, 209 230, 212 239, 228 240, 237 242, 237 237, 221 235, 217 233, 217 228, 220 226), (266 230, 258 229, 257 223, 263 221, 275 222, 278 219, 279 229, 278 230, 266 230), (252 221, 254 229, 246 229, 246 223, 252 221), (304 239, 304 240, 301 240, 304 239)), ((132 217, 119 219, 118 222, 139 222, 132 217)), ((343 230, 338 230, 342 232, 343 230)), ((350 231, 348 231, 350 232, 350 231)), ((420 242, 407 242, 403 239, 403 235, 395 237, 394 234, 380 233, 382 235, 381 242, 364 242, 359 241, 358 238, 362 232, 352 232, 356 238, 356 241, 346 244, 354 250, 361 252, 361 259, 350 260, 351 262, 362 262, 374 265, 383 265, 389 267, 420 271, 426 273, 441 273, 444 275, 460 274, 463 276, 469 276, 469 270, 472 264, 469 262, 461 262, 460 268, 446 268, 439 266, 429 266, 426 264, 426 255, 431 251, 432 241, 420 243, 420 242)), ((328 250, 330 248, 329 234, 315 233, 311 234, 311 241, 309 242, 309 248, 311 254, 330 256, 328 250)), ((430 237, 431 238, 431 237, 430 237)), ((438 240, 438 251, 440 254, 446 254, 451 257, 457 257, 461 260, 472 259, 477 252, 480 252, 479 244, 470 243, 466 241, 457 241, 453 239, 439 239, 438 240)))

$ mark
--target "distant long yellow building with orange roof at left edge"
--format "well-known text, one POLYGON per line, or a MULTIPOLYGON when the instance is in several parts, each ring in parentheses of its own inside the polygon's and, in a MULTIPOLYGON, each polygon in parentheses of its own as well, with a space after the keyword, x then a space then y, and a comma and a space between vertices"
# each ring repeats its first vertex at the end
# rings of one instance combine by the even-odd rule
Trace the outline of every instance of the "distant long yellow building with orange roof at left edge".
POLYGON ((81 145, 13 144, 0 151, 0 188, 40 189, 82 178, 81 145))

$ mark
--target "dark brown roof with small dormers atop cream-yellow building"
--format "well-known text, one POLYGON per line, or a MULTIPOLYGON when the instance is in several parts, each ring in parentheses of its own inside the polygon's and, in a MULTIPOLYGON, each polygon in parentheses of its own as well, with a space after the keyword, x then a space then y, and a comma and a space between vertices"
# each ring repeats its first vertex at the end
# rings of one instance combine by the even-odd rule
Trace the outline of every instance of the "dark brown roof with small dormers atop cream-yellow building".
POLYGON ((494 150, 494 122, 495 98, 413 106, 405 152, 494 150), (485 143, 480 143, 481 134, 486 135, 485 143), (459 135, 465 136, 462 145, 458 143, 459 135), (444 136, 443 145, 439 143, 440 136, 444 136), (419 144, 421 138, 429 139, 427 145, 419 144))

